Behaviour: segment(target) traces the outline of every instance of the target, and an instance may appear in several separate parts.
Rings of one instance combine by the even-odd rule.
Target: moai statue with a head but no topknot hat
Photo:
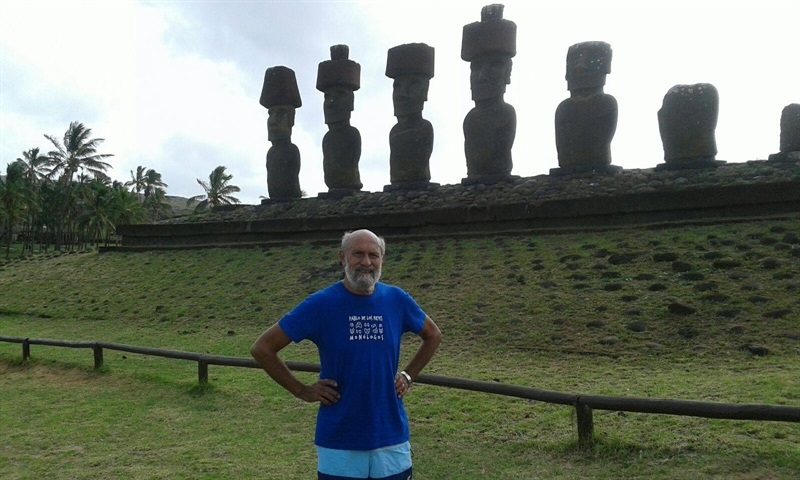
[[[556,149],[559,168],[552,175],[579,172],[615,173],[611,140],[617,131],[617,100],[603,93],[611,73],[611,45],[576,43],[567,50],[570,97],[556,109]]]

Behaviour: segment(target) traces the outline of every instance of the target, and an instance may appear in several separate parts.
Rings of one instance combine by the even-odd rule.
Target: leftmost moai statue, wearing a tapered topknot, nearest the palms
[[[292,143],[292,127],[302,102],[294,70],[268,68],[259,103],[269,112],[267,139],[272,142],[267,152],[267,202],[300,198],[300,150]]]

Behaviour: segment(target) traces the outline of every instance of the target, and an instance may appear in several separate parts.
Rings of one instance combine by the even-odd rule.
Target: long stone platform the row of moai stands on
[[[432,184],[231,205],[146,225],[121,225],[103,250],[262,246],[334,240],[369,228],[386,236],[574,231],[733,221],[800,213],[800,161],[754,160],[693,170],[631,169],[513,177],[492,185]]]

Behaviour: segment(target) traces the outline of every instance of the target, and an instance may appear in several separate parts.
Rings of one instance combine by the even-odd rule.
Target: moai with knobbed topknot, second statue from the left
[[[322,168],[328,194],[352,195],[363,186],[358,172],[361,134],[350,125],[355,91],[361,87],[361,65],[349,59],[347,45],[331,47],[331,59],[320,62],[317,90],[325,93],[323,111],[328,133],[322,139]]]

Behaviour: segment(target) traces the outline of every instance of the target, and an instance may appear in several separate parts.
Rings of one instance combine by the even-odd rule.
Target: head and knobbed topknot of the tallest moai
[[[504,6],[487,5],[481,21],[464,25],[461,58],[470,62],[470,88],[476,102],[502,98],[511,83],[517,54],[517,24],[503,18]]]

